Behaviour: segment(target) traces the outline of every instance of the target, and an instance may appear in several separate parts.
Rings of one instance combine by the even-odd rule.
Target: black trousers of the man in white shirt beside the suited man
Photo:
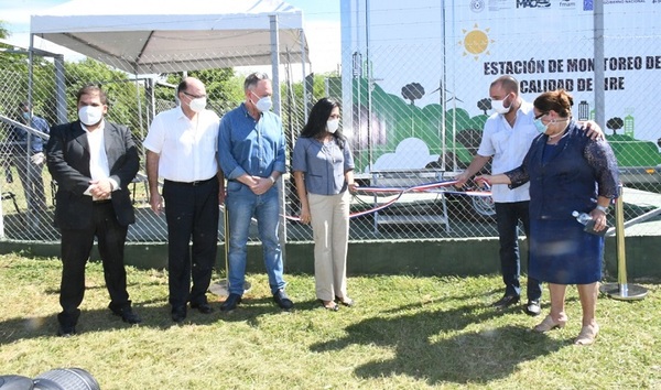
[[[170,304],[205,303],[218,251],[218,178],[195,184],[165,181],[163,198]]]

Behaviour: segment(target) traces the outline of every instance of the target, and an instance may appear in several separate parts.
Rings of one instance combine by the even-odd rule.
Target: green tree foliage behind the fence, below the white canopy
[[[0,22],[0,36],[7,34]],[[182,80],[183,74],[171,73],[154,76],[158,82],[154,88],[155,101],[150,100],[149,80],[136,79],[136,76],[104,64],[84,58],[65,61],[64,93],[66,120],[77,119],[76,93],[87,84],[100,86],[108,96],[108,120],[127,124],[138,138],[143,138],[151,122],[152,111],[156,112],[173,107],[174,88]],[[29,90],[29,55],[23,53],[3,53],[0,56],[0,112],[15,111],[18,102],[28,99]],[[53,58],[33,56],[32,100],[35,113],[44,117],[48,123],[57,123],[57,86]],[[207,90],[208,108],[223,116],[245,100],[243,78],[234,68],[212,68],[191,71],[188,76],[201,79]],[[308,83],[308,107],[319,98],[328,95],[326,79],[336,78],[337,74],[313,74]],[[312,88],[310,88],[310,86]],[[285,130],[297,133],[304,124],[302,107],[303,82],[289,83],[284,79],[281,89],[281,107]],[[339,95],[335,96],[339,98]]]

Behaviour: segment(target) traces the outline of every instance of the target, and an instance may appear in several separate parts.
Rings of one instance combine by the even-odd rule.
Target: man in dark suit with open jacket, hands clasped
[[[140,165],[138,150],[126,126],[104,120],[106,94],[86,86],[77,94],[79,120],[52,129],[46,163],[57,182],[55,226],[62,232],[62,284],[57,315],[59,336],[72,336],[85,294],[85,264],[94,238],[99,243],[108,307],[129,324],[140,317],[131,310],[123,264],[129,224],[136,221],[128,185]]]

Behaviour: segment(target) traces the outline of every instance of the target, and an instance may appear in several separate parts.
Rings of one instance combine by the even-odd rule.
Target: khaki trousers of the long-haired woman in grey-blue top
[[[338,195],[307,194],[314,237],[315,291],[322,301],[347,296],[350,199],[348,191]]]

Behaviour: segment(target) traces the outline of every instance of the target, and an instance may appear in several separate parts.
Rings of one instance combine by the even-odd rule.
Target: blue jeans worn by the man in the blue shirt
[[[226,212],[229,213],[229,293],[243,295],[248,234],[252,217],[257,219],[271,293],[284,289],[286,283],[282,277],[282,250],[278,239],[280,226],[278,187],[273,186],[263,195],[256,195],[243,184],[230,181],[227,184],[225,206]]]

